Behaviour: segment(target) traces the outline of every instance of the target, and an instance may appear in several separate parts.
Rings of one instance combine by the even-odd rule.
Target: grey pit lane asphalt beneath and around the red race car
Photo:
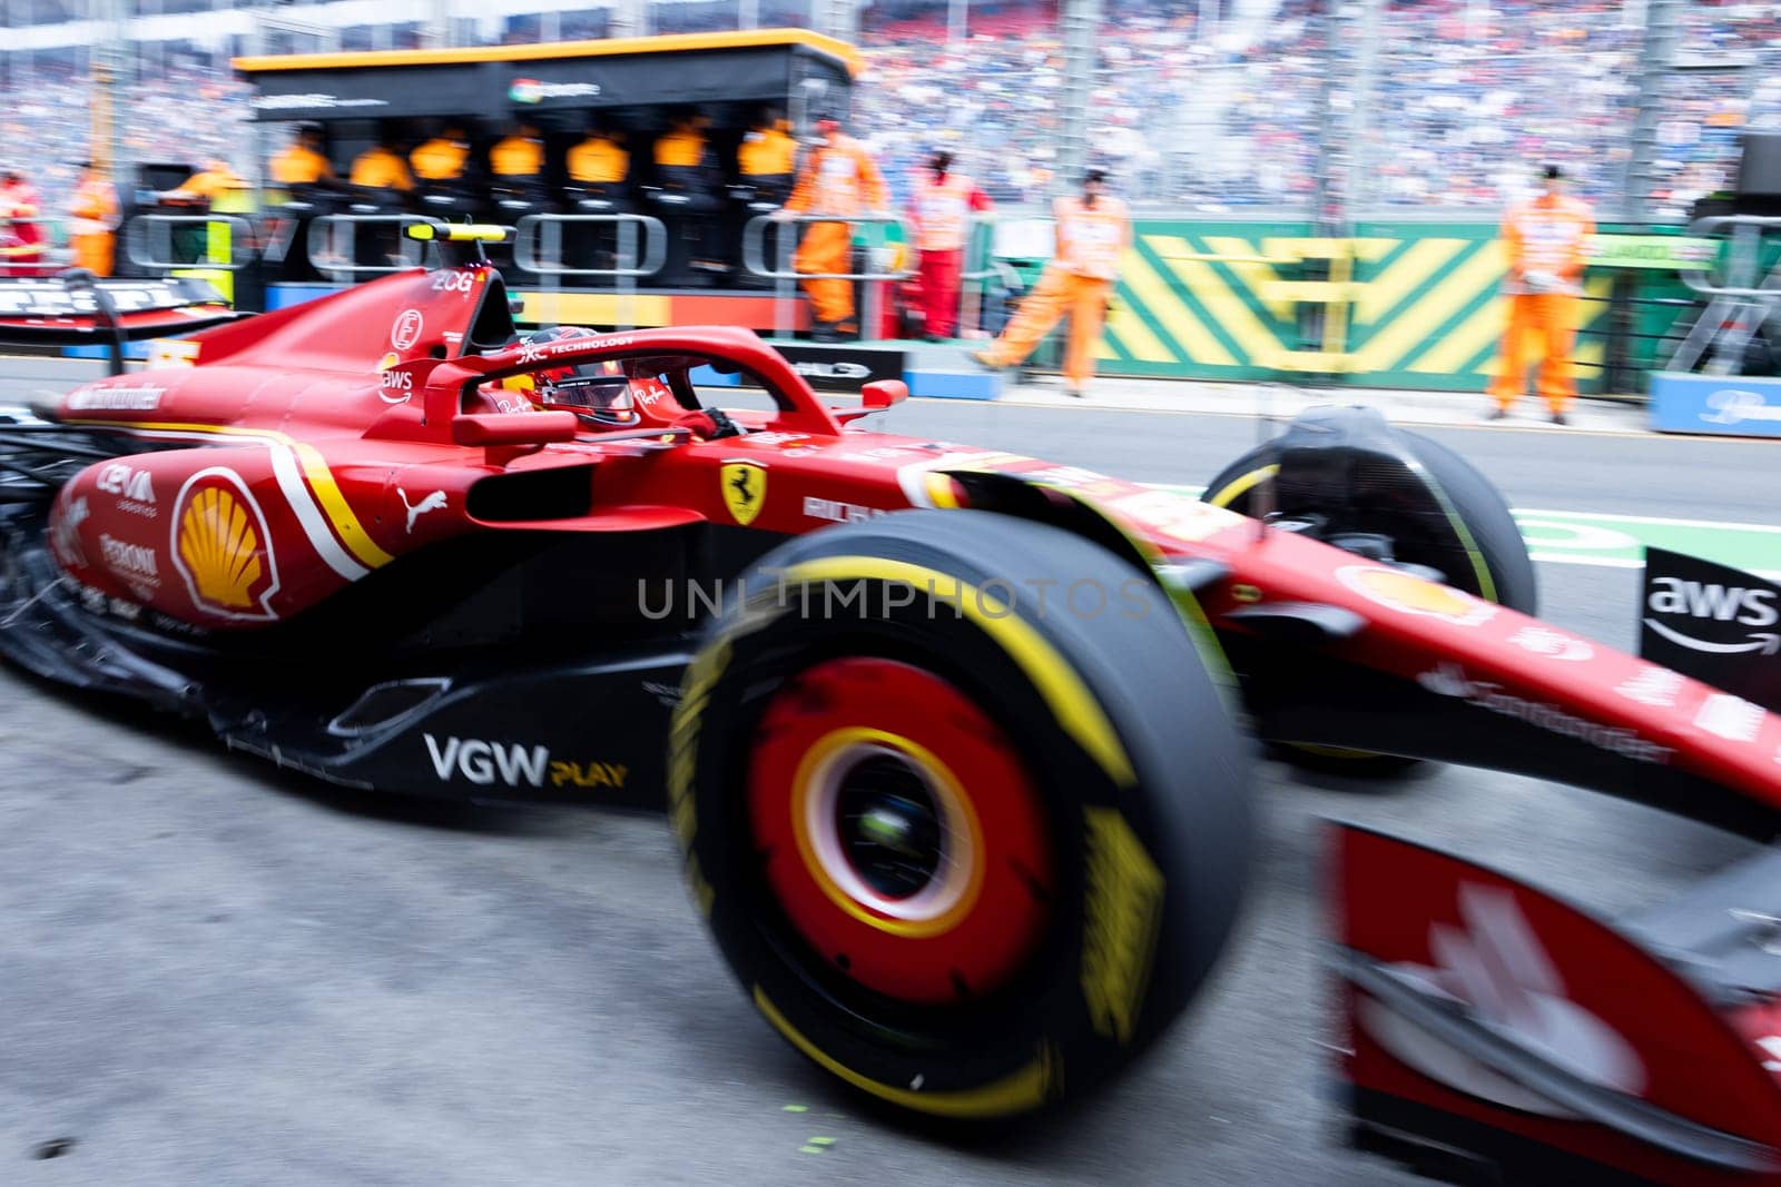
[[[69,368],[5,363],[0,399]],[[1243,418],[923,404],[885,427],[1199,484]],[[1432,431],[1512,504],[1777,521],[1776,445]],[[1546,616],[1630,646],[1637,575],[1541,566]],[[744,1002],[666,826],[319,788],[0,669],[0,1182],[1396,1183],[1327,1102],[1318,820],[1624,909],[1745,847],[1476,771],[1261,767],[1265,858],[1213,988],[1058,1125],[939,1141],[862,1107]],[[803,1112],[787,1112],[801,1105]],[[55,1160],[39,1143],[69,1137]],[[834,1144],[809,1146],[810,1137]]]

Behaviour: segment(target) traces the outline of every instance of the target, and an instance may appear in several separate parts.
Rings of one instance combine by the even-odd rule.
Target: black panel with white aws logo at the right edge
[[[1639,655],[1781,712],[1781,585],[1646,548]]]

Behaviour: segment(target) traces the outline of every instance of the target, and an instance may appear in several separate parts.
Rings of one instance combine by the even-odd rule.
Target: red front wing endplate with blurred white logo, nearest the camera
[[[1359,828],[1332,831],[1330,902],[1343,952],[1437,1002],[1464,1002],[1487,1041],[1516,1045],[1587,1089],[1605,1089],[1610,1109],[1633,1100],[1678,1125],[1635,1134],[1646,1118],[1589,1118],[1587,1103],[1496,1071],[1345,982],[1343,1075],[1355,1089],[1637,1182],[1781,1182],[1781,1160],[1765,1150],[1781,1134],[1772,1005],[1713,1009],[1651,950],[1571,904],[1434,849]],[[1662,1141],[1663,1128],[1678,1137],[1674,1146]],[[1679,1146],[1701,1135],[1696,1157],[1685,1157]],[[1708,1151],[1719,1159],[1703,1157]],[[1541,1182],[1578,1178],[1569,1167]]]

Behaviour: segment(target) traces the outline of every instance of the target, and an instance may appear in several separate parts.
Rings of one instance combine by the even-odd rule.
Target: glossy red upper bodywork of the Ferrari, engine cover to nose
[[[1222,632],[1241,634],[1224,616],[1257,603],[1345,607],[1364,628],[1329,648],[1338,660],[1419,682],[1615,758],[1688,771],[1781,810],[1781,719],[1703,683],[1327,545],[1289,532],[1263,536],[1252,520],[1183,495],[844,424],[857,409],[825,406],[752,331],[647,329],[568,338],[543,351],[463,354],[484,294],[504,299],[486,265],[404,272],[203,333],[194,338],[194,367],[68,393],[62,420],[126,425],[155,448],[94,464],[62,488],[50,529],[57,559],[73,578],[114,598],[212,630],[251,630],[465,532],[630,532],[709,521],[796,534],[951,505],[956,484],[935,475],[994,472],[1092,504],[1159,559],[1227,564],[1229,578],[1202,591]],[[486,375],[673,352],[753,372],[777,392],[778,411],[736,411],[750,429],[744,436],[682,434],[664,445],[684,409],[663,395],[638,408],[638,427],[629,431],[573,431],[573,440],[541,447],[459,443],[486,440],[486,425],[511,432],[515,424],[522,431],[534,424],[534,438],[550,436],[547,420],[572,434],[561,415],[499,415],[477,392]],[[167,450],[167,443],[205,448]],[[746,523],[725,502],[723,468],[734,463],[748,463],[762,479]],[[586,472],[588,514],[543,525],[467,514],[477,482],[549,468]],[[216,514],[194,513],[199,502]]]

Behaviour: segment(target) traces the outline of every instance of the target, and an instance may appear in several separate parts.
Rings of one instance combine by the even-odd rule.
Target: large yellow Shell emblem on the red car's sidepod
[[[199,470],[173,509],[173,566],[207,614],[272,619],[278,562],[260,504],[233,470]]]

